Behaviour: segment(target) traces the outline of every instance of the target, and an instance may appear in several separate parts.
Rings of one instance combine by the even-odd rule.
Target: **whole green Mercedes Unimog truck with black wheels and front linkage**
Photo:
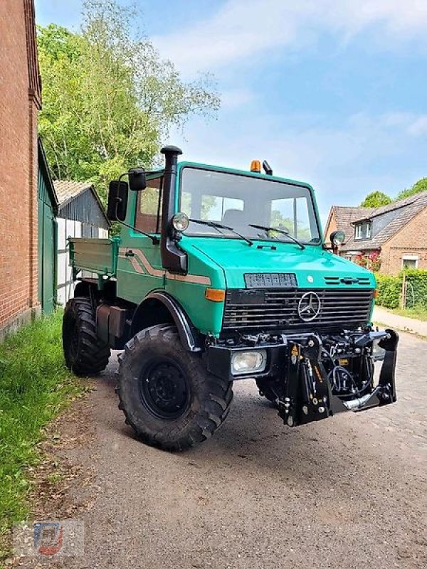
[[[164,168],[111,182],[120,237],[70,239],[67,366],[99,373],[122,350],[119,408],[167,450],[210,437],[243,379],[289,426],[396,401],[398,337],[372,327],[374,275],[327,249],[311,186],[266,162],[239,171],[162,153]]]

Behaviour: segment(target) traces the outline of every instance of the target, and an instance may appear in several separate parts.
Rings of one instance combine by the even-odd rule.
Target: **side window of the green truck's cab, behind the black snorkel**
[[[135,227],[144,233],[162,230],[163,177],[147,180],[147,188],[138,192]]]

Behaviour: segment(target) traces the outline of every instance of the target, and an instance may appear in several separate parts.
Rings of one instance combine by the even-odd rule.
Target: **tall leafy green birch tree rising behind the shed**
[[[185,83],[147,38],[137,14],[116,0],[85,0],[79,33],[38,28],[43,81],[39,130],[57,179],[107,183],[155,163],[172,126],[209,117],[219,98],[209,75]]]

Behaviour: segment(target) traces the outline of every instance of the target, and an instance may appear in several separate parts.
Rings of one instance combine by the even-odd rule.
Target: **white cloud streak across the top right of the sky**
[[[347,40],[369,26],[387,46],[427,38],[426,0],[228,0],[211,18],[154,37],[184,73],[215,70],[265,50],[300,48],[320,33]]]

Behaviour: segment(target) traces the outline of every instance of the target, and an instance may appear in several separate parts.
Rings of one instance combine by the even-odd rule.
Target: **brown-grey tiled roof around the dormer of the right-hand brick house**
[[[414,196],[404,200],[389,203],[388,206],[381,206],[380,208],[341,208],[347,210],[344,213],[344,220],[340,224],[339,216],[337,219],[337,227],[344,232],[348,231],[349,238],[342,245],[343,251],[349,250],[374,250],[381,248],[384,243],[391,239],[401,228],[406,225],[417,213],[420,213],[424,208],[427,208],[427,191],[416,193]],[[349,213],[351,211],[352,213]],[[396,211],[396,216],[384,225],[379,233],[374,235],[371,239],[354,239],[354,224],[364,220],[371,220],[379,216]],[[343,215],[341,214],[342,218]],[[352,218],[348,221],[349,216]]]

